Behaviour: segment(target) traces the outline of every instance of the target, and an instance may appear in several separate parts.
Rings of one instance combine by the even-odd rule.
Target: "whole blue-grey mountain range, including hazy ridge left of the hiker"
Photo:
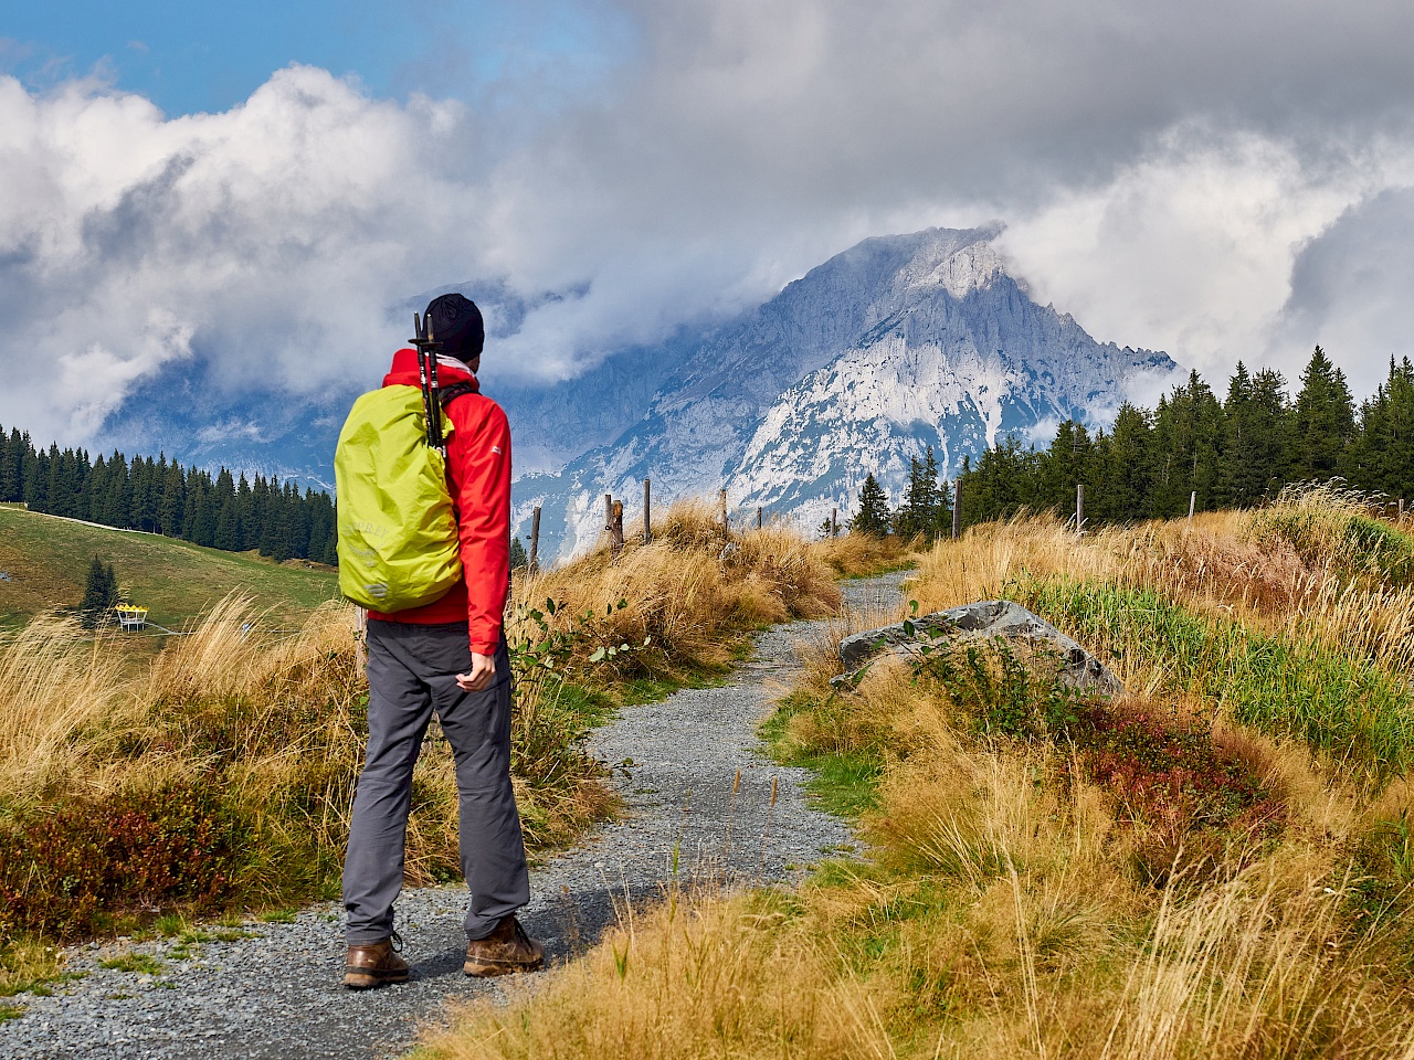
[[[390,312],[445,290],[482,307],[491,339],[482,383],[505,406],[516,442],[513,519],[523,533],[543,507],[542,555],[591,543],[607,492],[625,497],[633,519],[645,478],[655,503],[725,488],[742,512],[761,506],[809,529],[831,507],[850,512],[871,472],[896,503],[925,445],[953,475],[1011,432],[1044,438],[1065,418],[1107,427],[1135,383],[1176,372],[1165,353],[1096,342],[1034,302],[1005,270],[1000,230],[865,239],[754,310],[611,351],[553,384],[502,376],[495,339],[537,305],[585,288],[522,298],[503,284],[458,285]],[[143,387],[106,434],[130,451],[328,485],[354,396],[222,400],[184,366]]]

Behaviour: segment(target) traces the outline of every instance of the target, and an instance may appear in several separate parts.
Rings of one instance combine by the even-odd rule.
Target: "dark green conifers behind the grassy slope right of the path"
[[[1290,483],[1333,478],[1414,499],[1414,365],[1390,358],[1389,377],[1359,406],[1319,346],[1295,400],[1273,369],[1253,373],[1239,362],[1225,399],[1192,372],[1157,408],[1121,404],[1109,431],[1066,420],[1045,449],[1012,435],[964,458],[959,478],[966,524],[1021,509],[1075,512],[1077,485],[1086,523],[1172,519],[1188,514],[1191,499],[1199,512],[1251,507]],[[936,537],[950,530],[952,500],[929,448],[913,458],[895,510],[875,478],[865,479],[850,529]]]

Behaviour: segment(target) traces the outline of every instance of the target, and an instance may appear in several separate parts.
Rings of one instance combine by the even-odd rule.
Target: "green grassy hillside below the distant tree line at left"
[[[328,568],[281,567],[173,537],[0,506],[0,571],[10,575],[0,581],[0,629],[76,605],[95,555],[113,564],[127,598],[150,608],[150,620],[168,629],[181,629],[232,589],[291,623],[338,595],[338,575]]]

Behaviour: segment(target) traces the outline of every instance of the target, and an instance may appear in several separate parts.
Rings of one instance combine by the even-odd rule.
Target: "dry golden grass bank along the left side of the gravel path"
[[[560,608],[542,628],[529,611],[546,598]],[[734,639],[747,630],[829,613],[839,599],[827,568],[797,536],[768,527],[724,537],[699,505],[667,512],[650,546],[631,544],[617,557],[604,548],[518,579],[523,606],[509,635],[525,656],[516,666],[534,656],[534,642],[566,635],[556,670],[530,667],[530,680],[520,681],[513,715],[512,772],[532,852],[568,842],[612,811],[605,769],[581,741],[612,701],[605,687],[650,677],[662,688],[728,661]],[[181,827],[205,821],[199,827],[233,837],[221,842],[236,844],[223,848],[221,879],[201,883],[202,909],[332,890],[366,735],[354,611],[327,605],[294,635],[271,625],[250,599],[230,595],[141,667],[107,640],[54,618],[0,642],[6,930],[23,927],[49,902],[48,892],[34,890],[33,875],[6,871],[6,851],[24,855],[42,841],[65,864],[92,864],[122,842],[119,832],[136,827],[153,832],[151,859],[160,861],[167,856],[158,851],[163,830],[178,825],[143,821],[173,806],[195,814]],[[629,642],[635,650],[619,654]],[[615,650],[591,663],[595,647]],[[455,770],[436,725],[416,767],[413,804],[409,883],[454,878]],[[34,868],[44,875],[40,862]],[[170,879],[180,905],[191,893],[181,866],[165,876],[158,869],[144,862],[151,879]],[[124,900],[136,900],[124,897],[122,881],[89,875],[89,905],[65,920],[68,934],[98,930]],[[28,912],[13,913],[21,906]]]

